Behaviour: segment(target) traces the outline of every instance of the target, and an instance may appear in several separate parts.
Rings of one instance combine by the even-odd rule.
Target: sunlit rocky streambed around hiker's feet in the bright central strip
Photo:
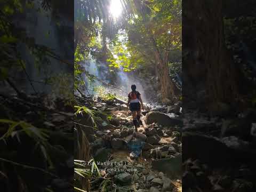
[[[97,129],[92,126],[86,133],[101,173],[91,178],[92,190],[181,191],[180,104],[172,108],[145,105],[134,134],[131,113],[122,102],[95,102],[92,109],[105,113],[98,115]],[[76,121],[92,124],[84,116]]]

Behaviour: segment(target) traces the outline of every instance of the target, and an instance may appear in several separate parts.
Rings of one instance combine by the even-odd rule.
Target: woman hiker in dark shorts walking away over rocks
[[[144,110],[144,106],[139,91],[136,91],[136,85],[132,85],[131,88],[132,92],[128,94],[127,107],[129,107],[130,105],[130,110],[132,111],[133,124],[135,126],[135,130],[138,131],[138,121],[140,120],[141,109]]]

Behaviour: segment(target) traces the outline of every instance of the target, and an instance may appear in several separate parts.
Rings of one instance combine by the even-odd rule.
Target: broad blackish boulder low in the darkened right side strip
[[[246,150],[244,146],[237,147],[236,141],[239,141],[237,139],[223,138],[222,140],[199,133],[183,132],[182,159],[199,159],[214,167],[227,166],[231,163],[234,166],[243,163],[255,165],[255,150]],[[241,145],[241,143],[238,144]]]

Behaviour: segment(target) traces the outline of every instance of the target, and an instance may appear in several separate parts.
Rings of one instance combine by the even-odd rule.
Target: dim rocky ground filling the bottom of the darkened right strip
[[[209,117],[187,110],[182,129],[184,191],[255,191],[255,109]],[[222,113],[223,114],[223,113]]]

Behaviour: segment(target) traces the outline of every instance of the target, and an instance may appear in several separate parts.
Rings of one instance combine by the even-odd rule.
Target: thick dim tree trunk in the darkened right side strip
[[[210,110],[220,102],[234,102],[239,75],[225,45],[222,1],[185,0],[182,7],[184,96],[197,103],[205,100]],[[196,95],[202,90],[203,98]]]

